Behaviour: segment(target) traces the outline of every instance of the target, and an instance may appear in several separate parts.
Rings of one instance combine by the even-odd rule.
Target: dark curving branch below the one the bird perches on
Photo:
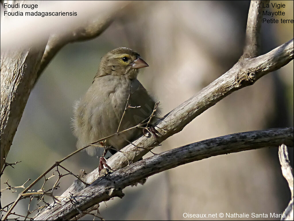
[[[35,220],[69,220],[76,215],[81,217],[79,210],[96,207],[97,203],[113,197],[123,197],[123,188],[156,173],[212,156],[278,147],[283,143],[293,147],[293,127],[230,134],[171,149],[99,177],[90,186],[71,194],[74,206],[69,200],[63,200],[61,205],[45,210]]]

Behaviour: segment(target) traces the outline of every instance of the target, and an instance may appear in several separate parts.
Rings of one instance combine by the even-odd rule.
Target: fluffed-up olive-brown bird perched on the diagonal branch
[[[118,134],[150,122],[152,115],[159,114],[159,109],[155,112],[156,98],[137,79],[139,69],[144,67],[148,64],[140,55],[126,47],[113,49],[101,58],[92,85],[74,105],[72,126],[77,149],[115,134],[103,142],[103,147],[120,150],[144,134],[144,129],[139,127]],[[148,131],[155,135],[157,130],[151,128]],[[87,147],[86,151],[93,156],[96,147]]]

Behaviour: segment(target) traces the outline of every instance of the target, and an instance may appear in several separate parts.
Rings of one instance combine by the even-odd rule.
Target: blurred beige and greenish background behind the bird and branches
[[[293,19],[293,1],[271,2],[286,5],[282,9],[285,16],[276,19]],[[1,189],[6,187],[3,183],[7,179],[12,186],[22,185],[28,178],[35,180],[55,161],[76,150],[70,126],[73,105],[90,87],[106,52],[125,46],[141,55],[150,67],[141,69],[138,79],[158,98],[164,116],[238,61],[243,52],[249,4],[250,1],[134,1],[97,38],[66,45],[30,94],[6,160],[22,162],[15,169],[6,169]],[[266,53],[293,38],[293,24],[263,23],[261,32],[261,50]],[[159,153],[231,133],[290,126],[293,127],[293,61],[221,100],[153,151]],[[289,154],[293,165],[293,148]],[[98,167],[98,159],[80,152],[62,165],[76,174],[80,169],[91,172]],[[49,180],[48,189],[56,179]],[[55,194],[60,195],[74,180],[72,176],[62,178]],[[41,186],[42,182],[34,189]],[[182,165],[123,192],[123,199],[100,204],[103,218],[187,220],[185,212],[269,215],[282,213],[290,200],[278,147]],[[2,206],[17,195],[4,191]],[[30,209],[35,205],[32,202]],[[27,206],[28,200],[21,201],[16,212],[26,214]],[[88,219],[93,217],[82,218]]]

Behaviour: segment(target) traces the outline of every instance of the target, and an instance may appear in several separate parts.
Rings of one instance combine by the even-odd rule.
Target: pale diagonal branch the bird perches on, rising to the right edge
[[[293,39],[267,54],[237,62],[228,72],[159,120],[156,127],[160,128],[158,130],[162,136],[157,138],[158,141],[162,142],[173,134],[180,132],[195,117],[224,97],[238,89],[253,84],[265,74],[283,67],[291,60],[293,60]],[[158,145],[157,139],[153,136],[149,138],[141,136],[132,144],[121,149],[122,152],[117,152],[110,157],[107,160],[107,164],[113,170],[118,170],[128,165],[128,159],[137,161]],[[138,147],[141,148],[138,149]],[[92,183],[98,178],[99,172],[97,168],[86,175],[84,181]],[[70,194],[75,194],[84,187],[80,182],[75,181],[62,196],[69,197]]]

